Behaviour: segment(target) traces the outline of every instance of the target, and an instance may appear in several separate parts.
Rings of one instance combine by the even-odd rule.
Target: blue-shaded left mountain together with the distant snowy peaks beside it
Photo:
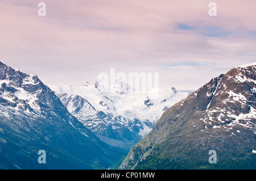
[[[46,86],[1,61],[0,169],[109,169],[189,94],[172,88],[152,99],[128,92],[122,81],[113,87],[103,92],[97,81]],[[38,163],[39,150],[47,164]]]

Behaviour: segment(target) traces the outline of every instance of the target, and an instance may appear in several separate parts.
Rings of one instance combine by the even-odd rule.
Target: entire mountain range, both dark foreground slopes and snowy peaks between
[[[123,81],[47,86],[0,61],[0,169],[255,169],[255,72],[151,96]]]

